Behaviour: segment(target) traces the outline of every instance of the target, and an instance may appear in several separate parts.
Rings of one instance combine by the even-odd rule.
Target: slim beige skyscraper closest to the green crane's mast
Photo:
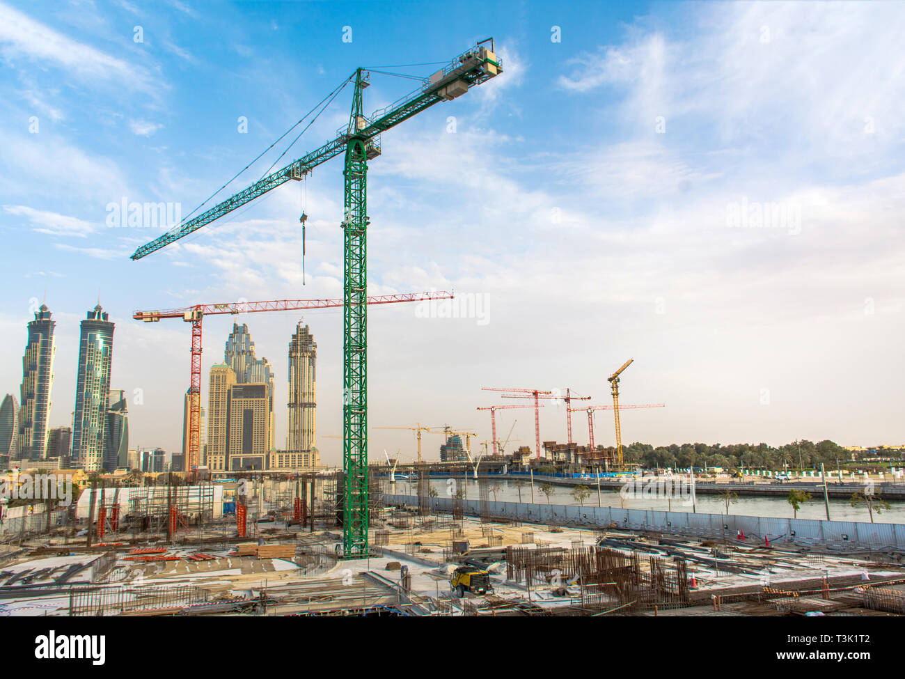
[[[318,345],[309,327],[299,321],[289,343],[289,428],[287,452],[309,451],[316,443]]]

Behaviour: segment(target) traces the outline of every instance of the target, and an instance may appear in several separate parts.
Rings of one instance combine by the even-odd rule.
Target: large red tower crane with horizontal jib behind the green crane
[[[395,304],[403,301],[449,300],[449,292],[405,292],[395,295],[373,295],[367,298],[368,304]],[[186,454],[186,472],[197,468],[198,454],[201,450],[201,322],[205,316],[223,313],[253,313],[257,311],[300,311],[306,309],[330,309],[341,307],[342,298],[338,300],[268,300],[268,301],[230,301],[224,304],[195,304],[183,309],[167,309],[165,311],[136,311],[132,314],[135,320],[156,323],[161,319],[182,319],[192,324],[192,365],[188,387],[188,454]]]

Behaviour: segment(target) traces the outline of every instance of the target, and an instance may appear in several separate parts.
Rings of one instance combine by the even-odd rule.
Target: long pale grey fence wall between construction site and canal
[[[452,498],[430,498],[434,509],[452,510]],[[385,494],[387,504],[417,505],[415,495]],[[466,514],[478,515],[479,500],[463,500]],[[691,512],[655,512],[618,507],[579,507],[569,504],[531,504],[529,502],[486,502],[486,511],[518,521],[555,525],[569,523],[587,528],[623,528],[632,531],[660,531],[734,538],[744,531],[746,541],[764,543],[795,542],[799,545],[823,544],[829,549],[905,550],[905,524],[865,523],[862,521],[821,521],[818,519],[780,519],[761,516],[734,516]]]

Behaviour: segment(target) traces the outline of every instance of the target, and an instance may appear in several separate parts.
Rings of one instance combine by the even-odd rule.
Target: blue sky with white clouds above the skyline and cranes
[[[185,215],[357,66],[443,62],[492,35],[503,75],[387,132],[368,196],[372,292],[481,295],[487,322],[372,311],[372,426],[449,423],[487,438],[474,408],[500,399],[481,387],[572,387],[606,403],[605,377],[631,356],[624,402],[667,404],[626,415],[632,440],[901,443],[900,10],[0,3],[2,389],[18,389],[24,323],[46,291],[58,320],[51,424],[70,424],[78,322],[100,291],[117,321],[113,386],[141,395],[131,444],[177,449],[188,329],[132,311],[340,296],[341,161],[140,262],[129,253],[160,230],[109,228],[107,206],[178,203]],[[368,111],[414,86],[373,82]],[[348,105],[344,91],[283,161],[332,139]],[[764,225],[733,224],[761,206],[772,206]],[[341,316],[304,318],[319,344],[319,433],[338,435]],[[297,320],[241,319],[278,392]],[[205,322],[205,372],[230,321]],[[562,409],[542,413],[542,438],[564,440]],[[518,419],[529,445],[531,417]],[[500,427],[511,421],[500,414]],[[277,423],[281,444],[279,400]],[[607,416],[598,423],[611,443]],[[338,463],[337,440],[319,444]]]

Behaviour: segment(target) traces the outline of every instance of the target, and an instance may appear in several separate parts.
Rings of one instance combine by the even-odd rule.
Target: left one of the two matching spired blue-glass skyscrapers
[[[53,386],[53,328],[51,312],[42,304],[28,323],[28,344],[22,359],[19,388],[19,453],[24,459],[47,457],[47,417]]]

